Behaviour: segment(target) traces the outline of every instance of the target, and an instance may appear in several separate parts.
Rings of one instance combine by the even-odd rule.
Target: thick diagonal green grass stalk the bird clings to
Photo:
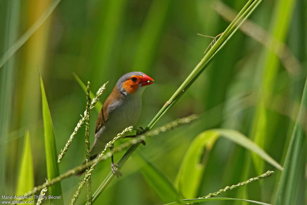
[[[186,90],[192,85],[192,83],[197,79],[197,77],[206,69],[209,63],[212,61],[215,54],[227,43],[227,41],[232,37],[232,35],[238,30],[239,26],[244,22],[246,18],[248,18],[253,11],[257,8],[257,6],[262,2],[262,0],[249,0],[243,9],[239,12],[239,14],[235,17],[235,19],[230,23],[230,25],[226,28],[220,38],[216,41],[216,43],[212,46],[212,48],[208,51],[208,53],[204,56],[204,58],[196,65],[193,71],[189,74],[189,76],[185,79],[185,81],[181,84],[181,86],[177,89],[177,91],[173,94],[173,96],[165,103],[165,105],[160,109],[157,115],[151,120],[151,122],[147,125],[144,132],[147,132],[153,128],[153,126],[160,120],[160,118],[164,115],[164,113],[172,107],[180,97],[186,92]],[[119,166],[121,167],[126,160],[131,156],[134,150],[138,147],[138,144],[132,145],[125,155],[119,160]],[[97,189],[95,193],[99,193],[99,189],[101,187],[106,187],[114,175],[112,172],[107,175],[104,179],[103,183]],[[94,194],[93,202],[98,196]]]

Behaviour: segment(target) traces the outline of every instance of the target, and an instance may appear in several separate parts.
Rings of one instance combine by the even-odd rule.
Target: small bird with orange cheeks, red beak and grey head
[[[142,93],[147,85],[153,84],[153,81],[151,77],[142,72],[126,73],[119,78],[98,115],[90,160],[95,159],[118,133],[137,123],[142,110]],[[125,137],[135,137],[135,135]],[[142,143],[145,145],[145,142]],[[113,150],[113,145],[110,149]],[[76,175],[80,176],[84,171],[85,169]],[[118,170],[118,164],[114,163],[113,155],[111,156],[111,171],[117,177],[122,175]]]

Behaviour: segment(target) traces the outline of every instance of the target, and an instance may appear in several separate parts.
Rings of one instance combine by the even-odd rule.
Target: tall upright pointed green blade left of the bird
[[[48,179],[53,179],[60,175],[59,165],[57,162],[56,152],[56,140],[54,136],[54,128],[52,124],[51,114],[49,105],[45,93],[43,80],[40,76],[41,82],[41,100],[43,109],[43,120],[44,120],[44,135],[45,135],[45,152],[46,152],[46,164],[47,164],[47,176]],[[63,204],[63,194],[61,183],[55,183],[49,187],[49,195],[61,196],[61,199],[50,200],[50,204]]]

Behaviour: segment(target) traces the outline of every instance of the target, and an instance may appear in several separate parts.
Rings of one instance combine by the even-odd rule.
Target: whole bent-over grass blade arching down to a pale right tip
[[[191,143],[185,154],[182,164],[177,173],[175,187],[186,198],[196,197],[201,181],[202,173],[205,169],[208,155],[216,140],[223,136],[228,140],[256,153],[263,160],[272,164],[274,167],[282,170],[282,166],[278,164],[272,157],[263,151],[257,144],[251,141],[238,131],[230,129],[211,129],[200,133]],[[204,152],[205,149],[205,153]],[[191,183],[193,182],[193,183]],[[191,197],[192,196],[192,197]]]

